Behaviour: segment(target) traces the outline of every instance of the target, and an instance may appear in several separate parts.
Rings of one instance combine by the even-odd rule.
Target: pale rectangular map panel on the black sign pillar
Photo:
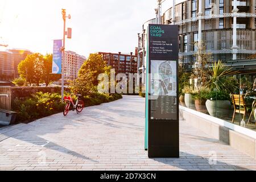
[[[176,61],[151,60],[151,96],[177,95]]]

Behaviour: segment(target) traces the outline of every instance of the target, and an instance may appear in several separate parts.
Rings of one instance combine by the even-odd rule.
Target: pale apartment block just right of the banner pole
[[[63,63],[64,80],[75,80],[84,61],[86,61],[85,56],[81,56],[76,52],[65,51],[65,61]]]

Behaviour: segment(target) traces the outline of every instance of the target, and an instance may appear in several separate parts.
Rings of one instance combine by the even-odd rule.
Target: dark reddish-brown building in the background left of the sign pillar
[[[133,52],[130,54],[119,53],[108,53],[108,52],[98,52],[99,55],[102,55],[102,58],[106,63],[115,69],[115,73],[137,73],[137,56],[138,49],[135,50],[135,55]]]

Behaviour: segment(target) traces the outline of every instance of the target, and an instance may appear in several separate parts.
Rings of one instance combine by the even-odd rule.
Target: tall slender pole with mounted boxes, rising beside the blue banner
[[[62,9],[62,17],[63,17],[63,21],[64,21],[64,28],[63,28],[63,47],[62,47],[62,51],[63,51],[63,58],[62,58],[62,72],[61,72],[61,101],[64,101],[64,61],[65,61],[65,35],[67,35],[66,32],[66,18],[71,19],[71,15],[69,14],[68,16],[66,16],[66,10]],[[71,32],[69,32],[69,34],[71,34]],[[68,38],[71,38],[71,35],[68,35]]]

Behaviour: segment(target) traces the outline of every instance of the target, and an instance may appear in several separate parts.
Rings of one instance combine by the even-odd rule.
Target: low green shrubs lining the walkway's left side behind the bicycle
[[[69,96],[69,93],[64,93]],[[71,96],[73,101],[76,96]],[[100,105],[105,102],[112,102],[122,98],[121,94],[100,94],[92,93],[89,96],[84,96],[85,106]],[[30,98],[19,100],[15,98],[12,102],[12,109],[16,111],[16,122],[30,122],[35,119],[47,117],[52,114],[60,113],[64,109],[59,93],[43,93],[38,92],[32,94]]]

